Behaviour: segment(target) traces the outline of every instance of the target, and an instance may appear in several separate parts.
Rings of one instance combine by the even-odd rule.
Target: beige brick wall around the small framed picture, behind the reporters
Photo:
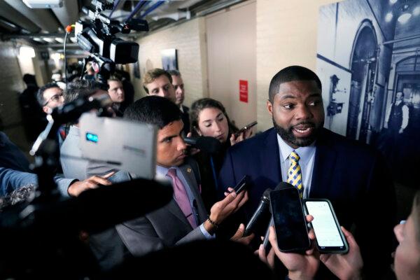
[[[176,48],[179,71],[186,87],[186,106],[201,97],[207,97],[207,49],[205,45],[204,18],[190,20],[141,38],[139,43],[139,65],[141,77],[146,71],[162,67],[160,52]],[[144,96],[141,80],[133,79],[136,99]],[[139,94],[141,92],[141,94]]]

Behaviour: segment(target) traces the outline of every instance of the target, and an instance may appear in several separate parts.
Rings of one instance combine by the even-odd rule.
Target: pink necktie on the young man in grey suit
[[[167,176],[169,176],[172,179],[172,186],[174,187],[174,196],[176,203],[178,204],[179,208],[181,208],[184,216],[186,216],[186,218],[188,219],[188,222],[190,222],[190,225],[193,228],[197,228],[186,188],[183,186],[183,183],[181,182],[179,177],[176,176],[176,169],[169,169]]]

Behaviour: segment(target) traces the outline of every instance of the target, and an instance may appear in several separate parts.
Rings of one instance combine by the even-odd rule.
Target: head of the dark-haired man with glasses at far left
[[[64,104],[63,90],[56,83],[48,83],[39,88],[36,99],[42,111],[50,113],[55,107]]]

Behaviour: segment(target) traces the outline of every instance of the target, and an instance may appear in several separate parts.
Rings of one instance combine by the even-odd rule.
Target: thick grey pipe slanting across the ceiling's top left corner
[[[10,6],[18,10],[19,13],[25,15],[32,22],[34,22],[41,29],[48,32],[56,32],[60,27],[59,22],[54,18],[48,9],[31,9],[25,5],[22,1],[16,0],[4,0]]]

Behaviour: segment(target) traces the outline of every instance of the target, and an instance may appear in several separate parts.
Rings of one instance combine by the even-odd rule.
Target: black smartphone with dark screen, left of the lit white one
[[[306,251],[311,246],[307,221],[297,188],[273,190],[269,200],[276,230],[277,244],[282,252]]]

